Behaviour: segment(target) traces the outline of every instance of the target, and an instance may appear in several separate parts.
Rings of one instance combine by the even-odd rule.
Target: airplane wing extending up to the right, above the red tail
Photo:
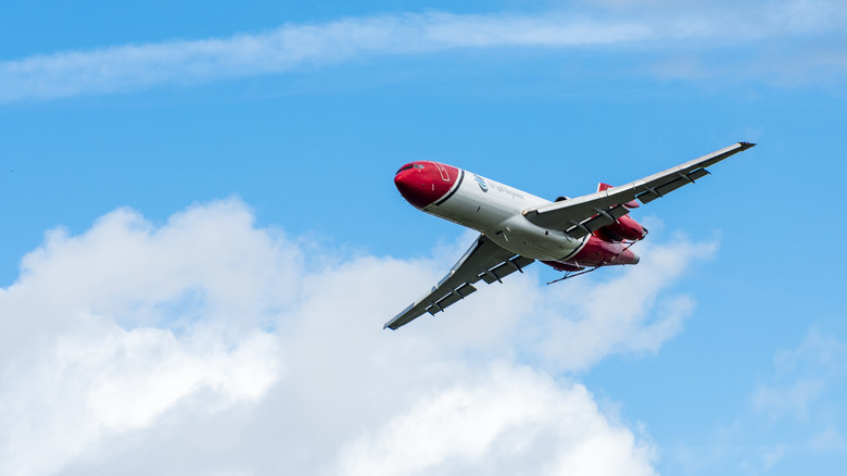
[[[649,203],[683,185],[693,184],[694,180],[709,175],[706,167],[754,146],[755,143],[737,142],[620,187],[527,209],[523,211],[523,216],[535,225],[565,231],[573,238],[582,238],[598,228],[611,225],[629,213],[629,210],[623,206],[624,203],[635,199],[642,203]]]

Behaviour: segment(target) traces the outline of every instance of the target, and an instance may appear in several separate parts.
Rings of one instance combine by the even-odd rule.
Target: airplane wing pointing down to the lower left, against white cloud
[[[515,254],[491,241],[485,235],[480,235],[470,249],[456,263],[432,290],[418,299],[396,317],[382,327],[396,330],[412,320],[420,317],[425,312],[435,315],[454,302],[465,299],[475,292],[473,284],[483,280],[488,284],[501,281],[505,276],[531,264],[533,259]]]

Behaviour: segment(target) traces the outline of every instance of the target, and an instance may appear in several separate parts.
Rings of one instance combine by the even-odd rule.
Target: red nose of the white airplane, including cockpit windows
[[[458,168],[438,162],[413,162],[397,172],[394,185],[403,198],[422,209],[446,196],[458,174]]]

